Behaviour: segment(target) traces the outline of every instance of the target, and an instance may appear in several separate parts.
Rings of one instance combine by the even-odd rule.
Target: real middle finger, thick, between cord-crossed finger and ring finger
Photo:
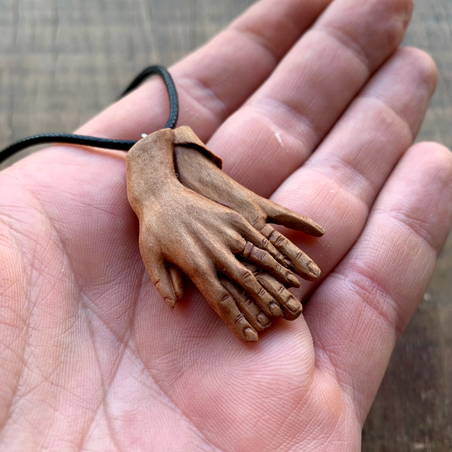
[[[334,1],[209,141],[225,172],[270,196],[395,51],[411,10],[412,0]]]

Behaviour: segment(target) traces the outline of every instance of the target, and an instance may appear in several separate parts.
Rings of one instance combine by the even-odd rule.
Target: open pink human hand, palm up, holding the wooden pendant
[[[52,147],[1,173],[5,450],[359,450],[450,230],[452,157],[412,146],[437,73],[397,50],[411,2],[328,3],[263,0],[171,69],[179,124],[240,184],[326,231],[287,233],[322,275],[299,289],[303,316],[258,343],[193,287],[174,311],[161,302],[125,155]],[[158,130],[165,95],[152,80],[79,132]]]

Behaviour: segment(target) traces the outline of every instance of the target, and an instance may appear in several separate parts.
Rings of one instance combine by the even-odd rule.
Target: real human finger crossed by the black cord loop
[[[179,124],[191,126],[202,140],[207,140],[268,77],[329,2],[259,1],[212,41],[173,66],[170,71],[181,105]],[[151,80],[78,132],[138,139],[142,133],[163,127],[167,111],[163,83]]]

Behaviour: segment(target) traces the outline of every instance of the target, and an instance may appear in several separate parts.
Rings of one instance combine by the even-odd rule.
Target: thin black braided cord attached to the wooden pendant
[[[179,116],[179,100],[174,80],[163,66],[146,67],[146,69],[141,71],[132,83],[127,86],[127,89],[121,94],[121,98],[133,89],[137,88],[137,86],[150,75],[159,75],[165,82],[168,97],[170,98],[170,116],[164,128],[174,129]],[[128,151],[135,143],[137,143],[137,141],[110,140],[108,138],[89,137],[86,135],[75,135],[72,133],[41,133],[39,135],[32,135],[31,137],[23,138],[10,144],[8,147],[5,147],[5,149],[0,151],[0,163],[26,147],[44,143],[79,144],[84,146],[101,147],[104,149],[116,149],[118,151]]]

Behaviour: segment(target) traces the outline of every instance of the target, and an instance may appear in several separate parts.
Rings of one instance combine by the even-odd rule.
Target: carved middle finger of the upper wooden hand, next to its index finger
[[[254,273],[248,268],[245,268],[244,265],[235,259],[234,255],[231,254],[230,258],[223,259],[219,269],[228,278],[235,281],[240,287],[243,287],[254,298],[266,315],[282,317],[281,307],[275,299],[259,284]]]

